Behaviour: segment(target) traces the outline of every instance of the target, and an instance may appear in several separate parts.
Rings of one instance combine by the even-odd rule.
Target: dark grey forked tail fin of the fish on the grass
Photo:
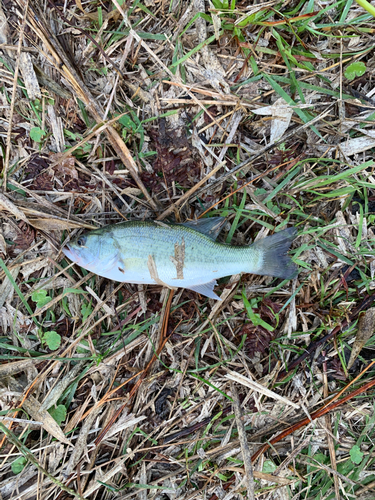
[[[260,250],[263,254],[262,267],[256,274],[284,279],[295,278],[298,267],[291,261],[287,251],[296,236],[297,229],[290,227],[251,245],[252,249]]]

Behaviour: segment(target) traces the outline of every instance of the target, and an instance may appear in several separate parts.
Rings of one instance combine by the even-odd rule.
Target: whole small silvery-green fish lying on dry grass
[[[225,218],[161,223],[127,221],[95,229],[70,241],[70,260],[111,280],[187,288],[211,299],[217,280],[239,273],[292,279],[296,264],[287,255],[297,235],[293,227],[252,245],[217,242]]]

